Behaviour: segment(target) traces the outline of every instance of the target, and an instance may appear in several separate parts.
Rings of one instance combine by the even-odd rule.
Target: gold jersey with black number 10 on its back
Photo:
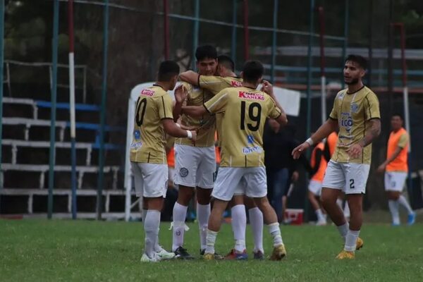
[[[161,120],[173,120],[170,95],[158,85],[141,91],[135,108],[133,142],[130,161],[166,164],[166,135]]]

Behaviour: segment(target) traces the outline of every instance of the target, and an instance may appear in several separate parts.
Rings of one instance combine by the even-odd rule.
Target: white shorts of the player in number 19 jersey
[[[212,196],[230,201],[237,195],[265,197],[267,195],[266,169],[259,167],[221,167],[217,173]]]

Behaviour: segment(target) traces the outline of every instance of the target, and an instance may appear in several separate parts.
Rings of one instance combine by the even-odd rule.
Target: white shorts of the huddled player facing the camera
[[[173,182],[187,187],[212,189],[216,172],[216,153],[212,147],[176,144]]]

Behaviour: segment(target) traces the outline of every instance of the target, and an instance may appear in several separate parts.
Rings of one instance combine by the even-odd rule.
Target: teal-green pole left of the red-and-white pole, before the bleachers
[[[53,47],[52,47],[52,82],[51,82],[51,113],[50,113],[50,156],[49,156],[49,199],[47,218],[51,219],[53,213],[53,185],[54,163],[56,155],[56,97],[57,97],[57,49],[59,47],[59,0],[53,4]]]

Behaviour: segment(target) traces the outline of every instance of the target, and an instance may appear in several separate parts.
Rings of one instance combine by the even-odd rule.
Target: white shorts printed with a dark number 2
[[[369,164],[329,161],[324,175],[323,188],[338,189],[345,194],[365,194]]]

